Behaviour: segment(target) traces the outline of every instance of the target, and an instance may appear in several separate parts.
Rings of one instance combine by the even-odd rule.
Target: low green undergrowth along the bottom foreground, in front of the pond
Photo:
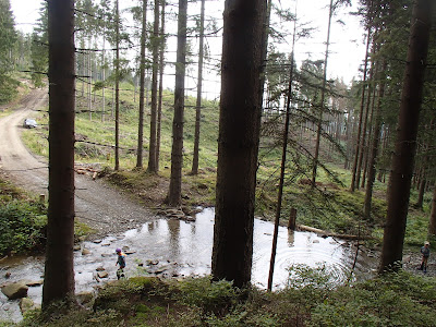
[[[436,279],[405,271],[337,286],[323,269],[298,266],[286,289],[240,290],[209,277],[135,277],[102,287],[94,300],[20,326],[434,326]],[[58,312],[58,313],[57,313]]]

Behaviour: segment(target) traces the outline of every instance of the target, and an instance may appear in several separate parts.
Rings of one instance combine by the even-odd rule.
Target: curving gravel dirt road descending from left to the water
[[[47,101],[47,90],[35,89],[21,100],[12,114],[0,119],[0,169],[19,186],[37,194],[48,193],[48,164],[27,150],[20,134],[24,119],[35,117],[34,110]],[[119,233],[155,218],[102,181],[76,174],[75,189],[76,218],[96,230],[93,238]]]

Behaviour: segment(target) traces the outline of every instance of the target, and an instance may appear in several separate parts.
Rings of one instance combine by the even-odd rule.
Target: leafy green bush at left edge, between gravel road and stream
[[[12,201],[1,206],[0,254],[40,247],[46,223],[46,208],[39,203]]]

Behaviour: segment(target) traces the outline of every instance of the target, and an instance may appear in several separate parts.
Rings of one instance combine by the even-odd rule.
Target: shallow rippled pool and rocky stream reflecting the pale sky
[[[156,219],[122,235],[109,235],[100,241],[84,242],[82,249],[90,253],[74,256],[76,293],[89,291],[107,280],[116,279],[117,255],[122,247],[128,253],[128,277],[150,275],[164,277],[204,276],[210,274],[215,211],[206,208],[196,215],[195,222],[173,219]],[[255,219],[252,282],[266,288],[271,253],[274,225]],[[131,254],[129,254],[131,253]],[[279,228],[274,288],[283,288],[288,280],[288,268],[296,264],[311,267],[325,265],[338,282],[348,278],[355,250],[344,241],[319,238],[313,232],[293,232]],[[375,267],[374,258],[360,254],[356,265],[358,276],[366,278]],[[97,268],[105,268],[108,278],[96,279]],[[44,275],[44,258],[12,258],[0,264],[0,283],[19,280],[39,280]],[[7,279],[4,272],[11,272]],[[359,278],[359,277],[358,277]],[[36,303],[41,301],[43,287],[29,288],[28,296]],[[0,293],[0,318],[20,320],[19,301],[8,301]]]

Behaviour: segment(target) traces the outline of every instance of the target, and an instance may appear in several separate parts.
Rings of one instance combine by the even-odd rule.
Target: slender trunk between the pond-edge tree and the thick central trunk
[[[202,0],[201,17],[199,17],[199,45],[198,45],[198,78],[197,78],[197,101],[195,110],[195,140],[194,155],[192,158],[191,174],[198,173],[198,152],[199,152],[199,125],[202,120],[202,85],[203,85],[203,57],[204,57],[204,12],[205,0]]]

